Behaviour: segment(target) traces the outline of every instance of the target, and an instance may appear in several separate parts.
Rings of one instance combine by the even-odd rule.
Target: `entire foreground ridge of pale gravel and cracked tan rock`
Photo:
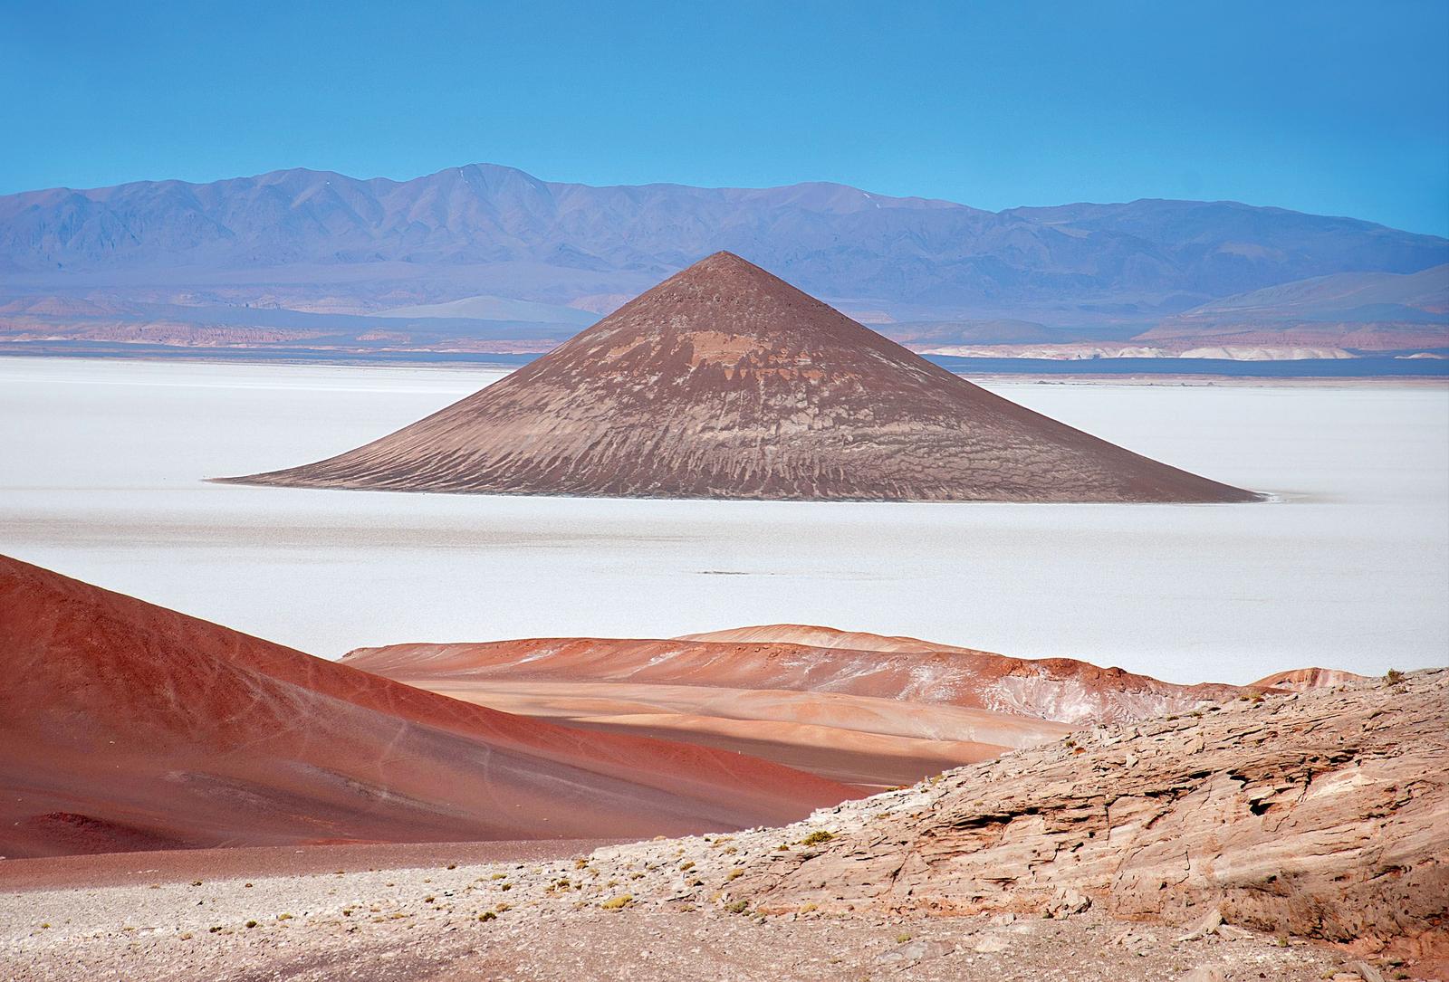
[[[440,844],[413,869],[339,859],[335,873],[0,894],[0,968],[16,979],[1436,979],[1449,968],[1446,698],[1449,671],[1269,694],[1078,733],[785,828],[551,862],[465,865]]]

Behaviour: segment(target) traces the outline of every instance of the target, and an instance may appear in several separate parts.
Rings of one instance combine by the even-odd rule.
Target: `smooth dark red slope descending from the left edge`
[[[640,837],[852,789],[409,688],[0,556],[0,855]]]

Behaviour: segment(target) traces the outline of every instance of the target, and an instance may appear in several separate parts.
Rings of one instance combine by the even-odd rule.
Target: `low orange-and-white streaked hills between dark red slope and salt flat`
[[[874,786],[1243,691],[797,624],[672,640],[391,645],[343,660],[510,713],[668,734]]]

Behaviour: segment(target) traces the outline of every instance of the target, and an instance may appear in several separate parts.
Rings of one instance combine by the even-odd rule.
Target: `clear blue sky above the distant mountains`
[[[0,193],[480,161],[1445,235],[1449,1],[0,0]]]

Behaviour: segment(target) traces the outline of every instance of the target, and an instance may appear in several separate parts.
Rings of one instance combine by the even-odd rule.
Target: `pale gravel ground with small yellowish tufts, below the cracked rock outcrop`
[[[914,791],[895,792],[909,800]],[[1058,979],[1156,982],[1343,975],[1333,949],[1223,926],[1065,918],[759,914],[732,870],[827,821],[610,846],[555,862],[440,863],[252,879],[0,894],[0,976],[638,982]],[[811,824],[813,823],[813,824]],[[454,866],[449,869],[448,866]],[[1385,978],[1394,978],[1392,966]]]

